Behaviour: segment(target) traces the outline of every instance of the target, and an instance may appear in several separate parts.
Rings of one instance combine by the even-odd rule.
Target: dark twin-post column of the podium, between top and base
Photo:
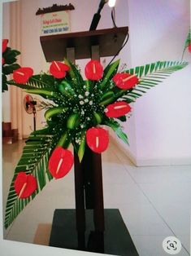
[[[91,46],[91,58],[99,60],[99,46]],[[67,48],[67,59],[75,62],[75,48]],[[85,148],[85,156],[80,163],[75,155],[75,196],[76,231],[78,248],[85,249],[85,208],[93,210],[94,231],[89,234],[88,248],[104,252],[104,206],[102,190],[101,154]]]

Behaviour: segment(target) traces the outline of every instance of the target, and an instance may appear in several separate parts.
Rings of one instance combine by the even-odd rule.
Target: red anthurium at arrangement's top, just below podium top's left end
[[[66,64],[63,64],[59,61],[53,61],[50,65],[50,74],[52,74],[56,78],[63,78],[66,77],[66,71],[68,71],[70,67],[68,67]]]

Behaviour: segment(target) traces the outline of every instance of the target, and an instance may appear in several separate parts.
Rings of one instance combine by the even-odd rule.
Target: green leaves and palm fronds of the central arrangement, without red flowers
[[[102,125],[111,127],[119,139],[128,143],[128,136],[124,133],[119,122],[116,121],[126,121],[126,117],[122,116],[116,120],[106,117],[104,113],[106,106],[118,100],[124,100],[128,103],[135,102],[147,90],[163,82],[171,73],[184,68],[187,63],[158,61],[125,70],[126,73],[137,74],[139,78],[138,85],[129,90],[119,89],[112,81],[112,77],[117,73],[119,60],[106,67],[103,77],[99,81],[84,81],[76,65],[68,60],[65,60],[65,64],[70,67],[70,70],[63,79],[41,73],[30,77],[28,82],[23,85],[16,84],[14,81],[7,82],[6,74],[2,74],[4,84],[18,86],[27,93],[41,95],[53,101],[45,113],[47,127],[43,130],[37,130],[29,136],[22,157],[15,168],[7,198],[6,228],[52,179],[48,170],[48,161],[50,153],[56,146],[68,148],[72,143],[81,161],[86,147],[86,130],[93,126]],[[15,64],[11,64],[11,67],[5,69],[5,72],[11,72],[14,68],[16,68]],[[20,171],[33,174],[37,179],[37,191],[27,199],[19,199],[15,193],[14,182]]]

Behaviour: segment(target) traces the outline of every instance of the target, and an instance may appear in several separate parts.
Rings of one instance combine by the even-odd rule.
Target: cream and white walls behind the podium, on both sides
[[[39,7],[50,7],[52,0],[20,0],[22,2],[22,64],[31,66],[35,73],[46,70],[40,45]],[[73,0],[72,32],[89,30],[97,1]],[[157,60],[180,60],[184,40],[189,29],[188,0],[119,0],[116,6],[118,26],[129,25],[130,39],[120,54],[121,64],[128,68]],[[111,28],[111,11],[105,6],[98,29]],[[185,55],[190,60],[190,55]],[[110,58],[107,58],[109,61]],[[83,60],[78,61],[81,69]],[[175,73],[133,104],[132,117],[124,125],[130,147],[119,142],[137,165],[188,163],[190,150],[190,66]],[[30,133],[32,117],[24,114],[24,135]],[[37,115],[37,127],[43,114]]]

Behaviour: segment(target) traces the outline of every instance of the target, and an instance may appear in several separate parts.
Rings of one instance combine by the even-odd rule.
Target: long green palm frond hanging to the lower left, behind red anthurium
[[[46,130],[43,130],[44,132]],[[22,157],[15,168],[15,175],[12,179],[11,188],[7,197],[5,214],[5,227],[9,227],[14,219],[30,201],[37,196],[52,178],[47,170],[50,152],[55,146],[53,135],[30,135],[23,150]],[[37,190],[32,196],[20,199],[15,193],[14,182],[17,174],[25,171],[26,174],[33,174],[37,179]]]

